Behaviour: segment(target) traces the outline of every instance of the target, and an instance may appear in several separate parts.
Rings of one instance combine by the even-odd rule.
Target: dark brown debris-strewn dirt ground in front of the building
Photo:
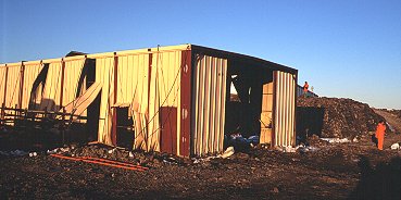
[[[399,122],[381,115],[390,124]],[[137,152],[129,157],[121,150],[121,161],[146,165],[146,172],[46,152],[0,155],[0,199],[401,199],[401,150],[390,149],[394,142],[401,142],[401,134],[388,133],[381,152],[369,135],[347,143],[311,137],[312,148],[297,152],[255,148],[203,160]],[[87,146],[64,154],[109,150]]]

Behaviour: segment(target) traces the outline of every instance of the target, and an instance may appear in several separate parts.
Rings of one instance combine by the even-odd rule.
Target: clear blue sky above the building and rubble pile
[[[401,0],[0,2],[0,63],[195,43],[298,68],[319,96],[401,109]]]

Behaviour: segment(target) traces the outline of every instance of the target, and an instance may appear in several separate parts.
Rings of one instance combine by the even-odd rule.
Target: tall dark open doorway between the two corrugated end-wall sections
[[[271,143],[273,70],[242,61],[230,61],[227,74],[225,145],[238,146],[237,138],[240,138],[240,142],[253,145]]]

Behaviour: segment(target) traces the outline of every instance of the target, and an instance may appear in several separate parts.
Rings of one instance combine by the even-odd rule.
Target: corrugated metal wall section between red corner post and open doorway
[[[193,68],[192,153],[223,151],[227,60],[198,54]]]

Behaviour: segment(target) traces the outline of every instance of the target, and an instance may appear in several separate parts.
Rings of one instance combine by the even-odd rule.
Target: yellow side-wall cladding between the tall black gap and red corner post
[[[181,51],[142,53],[122,51],[116,52],[115,57],[117,57],[116,63],[114,57],[95,57],[97,60],[96,82],[103,85],[99,141],[113,143],[112,107],[128,104],[129,115],[134,117],[134,148],[159,151],[162,125],[159,118],[161,107],[177,108],[176,133],[179,133]],[[114,102],[114,64],[117,64],[116,102]],[[178,139],[173,142],[179,146]]]

